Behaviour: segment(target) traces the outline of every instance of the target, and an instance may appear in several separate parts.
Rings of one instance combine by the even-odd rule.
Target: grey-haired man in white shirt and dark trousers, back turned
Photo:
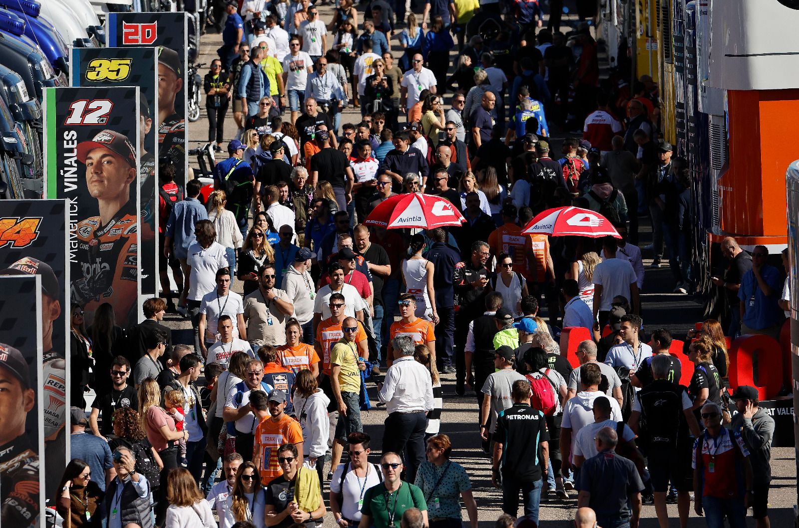
[[[403,453],[407,447],[406,480],[416,477],[416,468],[424,462],[424,430],[427,412],[433,410],[433,384],[430,372],[413,359],[415,344],[410,337],[392,341],[398,358],[386,372],[378,398],[386,404],[383,452]]]

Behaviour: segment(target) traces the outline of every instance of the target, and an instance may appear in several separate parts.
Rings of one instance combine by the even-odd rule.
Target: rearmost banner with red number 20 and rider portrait
[[[158,159],[169,158],[178,168],[176,180],[183,183],[188,167],[185,126],[189,85],[188,18],[185,13],[109,13],[105,18],[109,47],[156,46],[158,56]]]

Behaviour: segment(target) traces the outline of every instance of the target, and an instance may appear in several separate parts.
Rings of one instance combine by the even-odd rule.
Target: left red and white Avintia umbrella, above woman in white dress
[[[459,226],[466,222],[455,206],[446,198],[423,195],[419,192],[395,195],[380,203],[364,224],[367,226],[403,229],[416,227],[435,229],[444,226]]]

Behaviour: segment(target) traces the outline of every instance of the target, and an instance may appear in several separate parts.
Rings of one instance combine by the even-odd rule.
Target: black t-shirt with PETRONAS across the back
[[[549,441],[547,420],[528,404],[514,404],[497,417],[494,441],[503,444],[505,479],[533,483],[541,479],[540,442]]]

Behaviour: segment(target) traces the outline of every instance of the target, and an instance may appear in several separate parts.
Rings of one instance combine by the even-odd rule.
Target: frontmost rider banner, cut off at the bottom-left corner
[[[44,526],[41,319],[42,276],[0,277],[2,526]]]

